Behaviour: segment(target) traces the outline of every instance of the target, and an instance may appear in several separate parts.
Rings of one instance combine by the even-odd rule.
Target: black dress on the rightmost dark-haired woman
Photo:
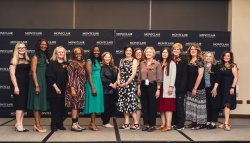
[[[236,66],[232,64],[230,68],[226,68],[222,66],[220,68],[220,94],[222,96],[222,104],[221,108],[224,109],[225,106],[234,110],[236,108],[236,88],[234,89],[234,94],[230,95],[230,89],[232,87],[234,81],[234,75],[232,72],[232,68]]]

